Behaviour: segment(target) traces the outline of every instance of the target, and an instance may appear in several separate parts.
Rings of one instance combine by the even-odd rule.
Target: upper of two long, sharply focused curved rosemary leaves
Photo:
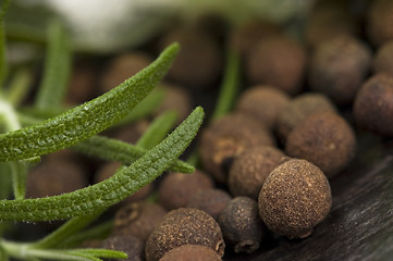
[[[50,153],[84,140],[127,115],[167,73],[179,45],[105,95],[40,124],[0,135],[0,161]]]

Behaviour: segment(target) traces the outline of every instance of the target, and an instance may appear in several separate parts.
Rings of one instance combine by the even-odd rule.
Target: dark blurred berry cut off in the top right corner
[[[374,46],[381,46],[393,39],[393,1],[376,0],[369,8],[366,29],[368,38]]]

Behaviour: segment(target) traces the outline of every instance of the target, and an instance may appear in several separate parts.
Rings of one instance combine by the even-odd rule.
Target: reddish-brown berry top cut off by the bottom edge
[[[184,245],[165,252],[160,261],[221,261],[221,257],[209,247]]]

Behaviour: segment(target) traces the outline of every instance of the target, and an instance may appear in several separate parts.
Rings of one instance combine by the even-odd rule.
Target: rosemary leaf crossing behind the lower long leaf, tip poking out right
[[[102,136],[93,136],[76,144],[72,149],[102,160],[120,161],[124,165],[130,165],[147,151],[134,145]],[[195,171],[194,166],[180,160],[173,161],[169,170],[182,173],[193,173]]]

